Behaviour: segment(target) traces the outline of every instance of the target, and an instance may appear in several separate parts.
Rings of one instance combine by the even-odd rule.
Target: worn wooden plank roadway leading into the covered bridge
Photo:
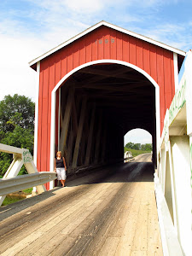
[[[163,255],[148,159],[1,207],[1,255]]]

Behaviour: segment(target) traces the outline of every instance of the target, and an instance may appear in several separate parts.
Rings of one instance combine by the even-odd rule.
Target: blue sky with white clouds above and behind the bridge
[[[35,101],[28,62],[101,20],[188,51],[191,10],[191,0],[1,0],[0,100],[19,93]]]

